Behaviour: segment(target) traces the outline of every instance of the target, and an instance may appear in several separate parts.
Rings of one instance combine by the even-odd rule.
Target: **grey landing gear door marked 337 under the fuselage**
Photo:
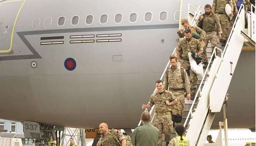
[[[23,122],[24,136],[31,139],[40,139],[40,125],[36,122]]]

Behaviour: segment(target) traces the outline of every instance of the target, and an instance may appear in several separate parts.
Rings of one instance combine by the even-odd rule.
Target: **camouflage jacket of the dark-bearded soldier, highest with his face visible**
[[[203,16],[203,15],[201,15],[201,16]],[[209,15],[204,14],[203,21],[200,21],[200,19],[197,21],[198,25],[200,25],[200,23],[203,23],[203,30],[205,32],[215,31],[215,26],[216,26],[217,30],[218,30],[218,34],[222,33],[221,26],[220,26],[220,20],[216,14],[213,14],[213,12],[211,12]]]

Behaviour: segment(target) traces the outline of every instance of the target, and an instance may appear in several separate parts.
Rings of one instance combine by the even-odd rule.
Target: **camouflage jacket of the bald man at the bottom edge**
[[[126,138],[122,132],[112,129],[106,135],[100,137],[97,146],[120,146],[123,139]]]

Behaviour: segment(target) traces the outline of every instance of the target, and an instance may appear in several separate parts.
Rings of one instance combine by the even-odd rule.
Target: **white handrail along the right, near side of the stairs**
[[[233,33],[233,31],[234,31],[234,28],[235,28],[235,23],[237,23],[237,20],[238,20],[238,17],[239,17],[239,14],[240,14],[240,12],[241,12],[242,7],[244,8],[244,5],[243,5],[243,4],[242,4],[242,5],[240,6],[240,8],[239,8],[239,11],[238,11],[238,13],[237,13],[237,17],[236,17],[236,19],[235,19],[235,22],[234,22],[234,25],[233,25],[233,27],[232,27],[232,30],[230,31],[230,35],[229,35],[229,37],[228,37],[228,41],[227,41],[227,43],[226,43],[226,45],[225,45],[224,50],[222,51],[222,50],[219,49],[218,47],[215,47],[215,48],[214,48],[214,51],[213,51],[213,53],[212,53],[212,55],[211,55],[210,60],[212,60],[213,55],[216,56],[216,49],[218,49],[218,50],[221,52],[221,58],[224,57],[225,51],[226,51],[226,49],[227,49],[227,47],[228,47],[228,42],[230,42],[230,38],[231,38],[232,33]],[[202,80],[201,80],[201,82],[200,82],[200,85],[199,85],[199,87],[198,87],[198,90],[197,90],[197,93],[196,93],[196,95],[195,95],[194,101],[192,102],[192,105],[191,105],[191,107],[190,107],[190,111],[189,111],[189,113],[187,114],[187,118],[186,118],[186,120],[185,120],[184,127],[187,125],[187,121],[188,121],[188,119],[189,119],[189,117],[190,117],[190,114],[191,114],[191,116],[192,116],[192,110],[193,110],[193,107],[194,107],[194,103],[195,103],[195,101],[196,101],[196,99],[197,99],[197,97],[198,97],[198,94],[201,93],[201,86],[202,86],[202,83],[203,83],[204,78],[205,78],[205,76],[206,76],[206,73],[207,73],[207,71],[208,71],[208,69],[209,69],[209,66],[210,66],[210,62],[208,63],[208,65],[207,65],[207,67],[206,67],[206,72],[204,72],[204,76],[203,76],[203,78],[202,78]],[[217,70],[216,70],[216,74],[217,74]],[[197,105],[197,106],[198,106],[198,105]],[[188,129],[189,129],[189,127],[187,127],[186,131],[187,131]],[[185,134],[186,134],[186,133],[185,133]]]

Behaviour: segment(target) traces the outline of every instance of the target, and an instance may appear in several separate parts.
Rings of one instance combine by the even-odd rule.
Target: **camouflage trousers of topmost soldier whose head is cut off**
[[[216,13],[218,18],[220,19],[220,26],[221,26],[221,30],[222,30],[222,36],[221,39],[225,39],[228,40],[228,36],[230,33],[230,24],[228,21],[228,15],[227,14],[220,14],[220,13]]]

